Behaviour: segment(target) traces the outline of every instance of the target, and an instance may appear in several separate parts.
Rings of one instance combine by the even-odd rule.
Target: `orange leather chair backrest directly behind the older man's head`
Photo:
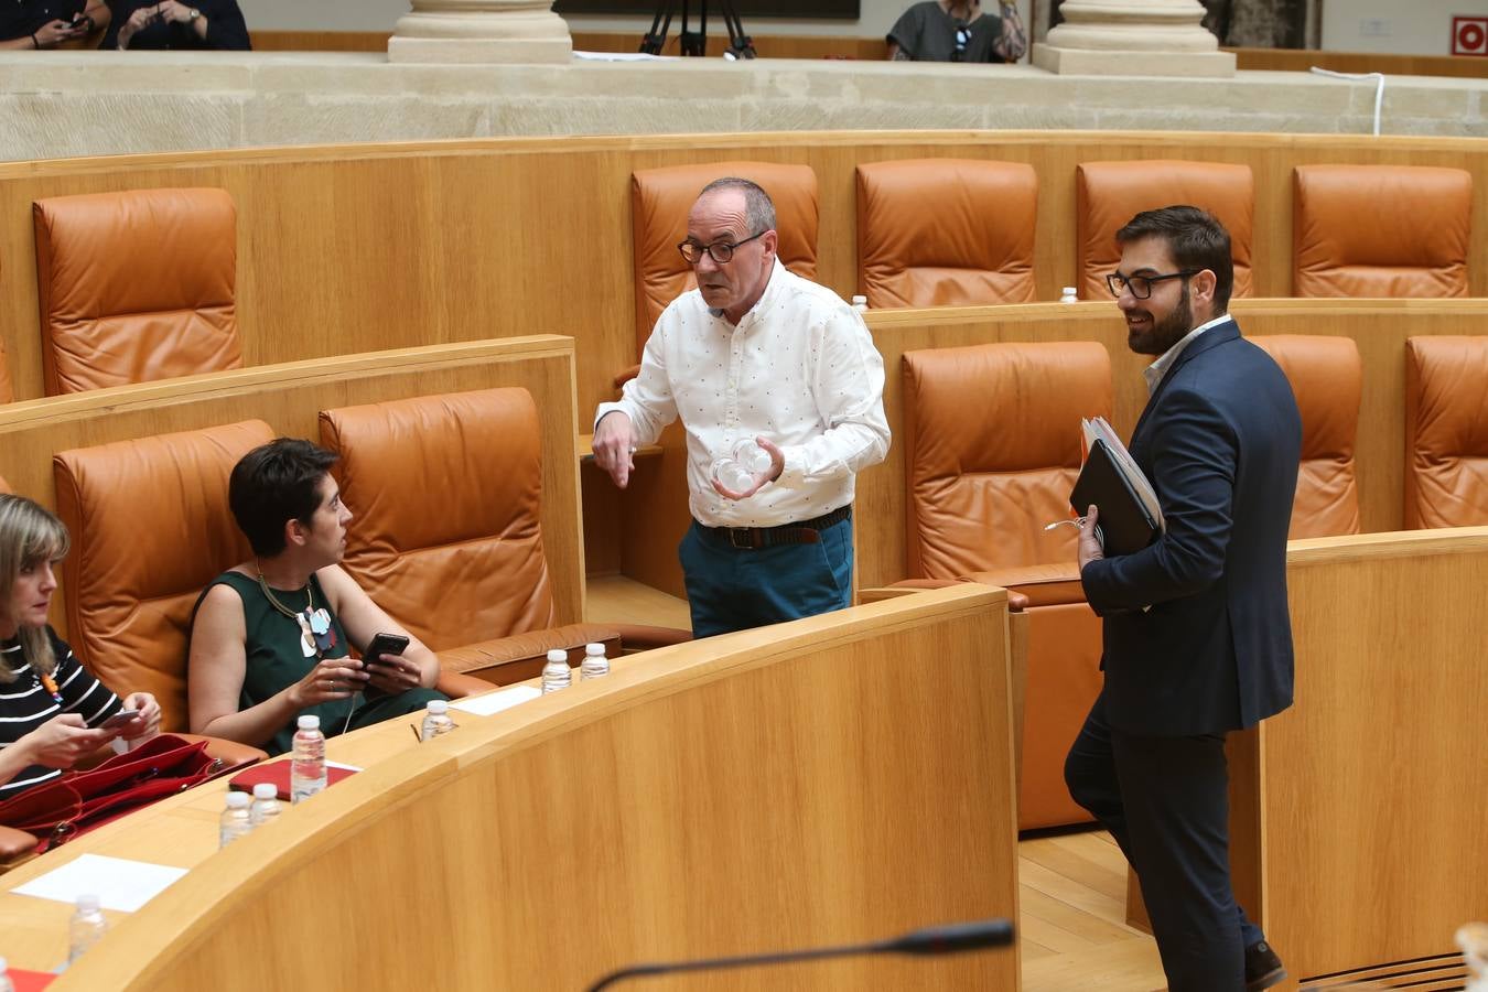
[[[737,175],[757,183],[775,204],[780,263],[817,277],[817,174],[809,165],[708,162],[641,170],[631,175],[635,247],[635,355],[640,357],[667,305],[698,284],[677,251],[687,236],[687,211],[702,187]]]

